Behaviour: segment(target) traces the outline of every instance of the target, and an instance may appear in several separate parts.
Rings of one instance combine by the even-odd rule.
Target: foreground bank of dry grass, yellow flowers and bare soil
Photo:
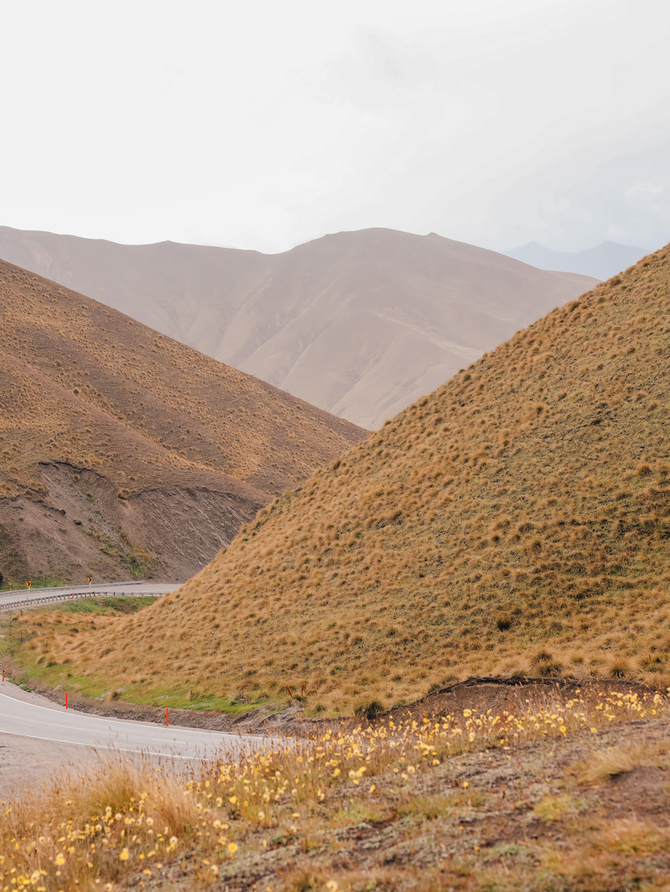
[[[115,756],[3,803],[4,888],[660,892],[669,720],[665,694],[592,685],[193,770]]]

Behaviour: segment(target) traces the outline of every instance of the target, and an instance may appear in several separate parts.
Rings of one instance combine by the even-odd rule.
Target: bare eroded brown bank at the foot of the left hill
[[[120,498],[91,469],[40,465],[41,491],[0,499],[4,584],[134,577],[179,582],[201,569],[264,503],[203,486],[156,486]],[[121,493],[121,495],[125,495]]]

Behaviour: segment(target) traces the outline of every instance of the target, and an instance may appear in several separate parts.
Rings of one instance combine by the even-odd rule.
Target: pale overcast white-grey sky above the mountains
[[[3,5],[0,224],[670,241],[668,0]]]

